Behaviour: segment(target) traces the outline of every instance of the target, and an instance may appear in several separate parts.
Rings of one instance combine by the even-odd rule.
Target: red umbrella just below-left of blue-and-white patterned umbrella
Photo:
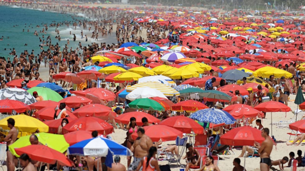
[[[185,116],[169,117],[165,120],[162,120],[160,125],[173,127],[183,133],[191,133],[191,131],[193,131],[195,134],[203,134],[203,127],[199,125],[195,120]]]

